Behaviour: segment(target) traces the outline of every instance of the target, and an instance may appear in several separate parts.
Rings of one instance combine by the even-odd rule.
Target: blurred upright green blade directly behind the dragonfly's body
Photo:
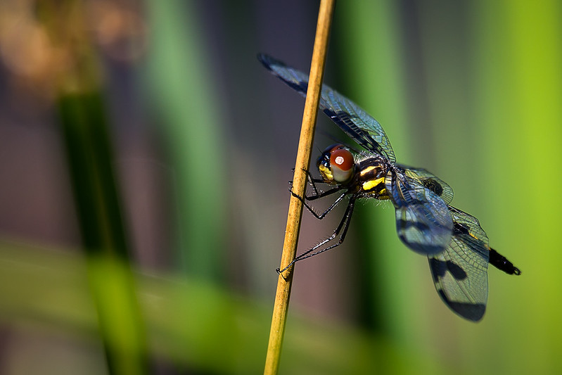
[[[336,8],[334,35],[339,35],[338,56],[342,82],[339,88],[346,96],[375,117],[385,129],[397,158],[402,163],[411,160],[408,136],[408,110],[402,60],[402,34],[399,4],[394,1],[346,1]],[[345,25],[338,29],[338,25]],[[376,330],[410,340],[415,330],[413,320],[404,316],[413,301],[414,291],[406,287],[407,277],[396,277],[414,256],[397,239],[393,208],[377,207],[369,212],[358,210],[355,225],[360,234],[358,246],[365,249],[370,260],[363,262],[366,282],[376,293],[376,300],[366,306],[372,314]],[[407,256],[404,256],[407,255]],[[384,283],[384,284],[381,284]],[[369,297],[365,297],[369,298]]]

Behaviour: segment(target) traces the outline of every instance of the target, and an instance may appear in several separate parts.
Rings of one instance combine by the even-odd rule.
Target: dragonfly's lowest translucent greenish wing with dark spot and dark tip
[[[451,310],[465,319],[482,319],[488,298],[490,247],[478,220],[450,207],[453,236],[443,253],[428,256],[435,289]]]

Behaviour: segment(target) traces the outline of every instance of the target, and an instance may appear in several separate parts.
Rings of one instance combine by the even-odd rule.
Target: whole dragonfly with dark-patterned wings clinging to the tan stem
[[[307,74],[265,54],[257,58],[273,75],[306,96]],[[305,171],[312,192],[301,197],[290,191],[319,220],[346,198],[347,207],[331,236],[277,272],[285,272],[295,262],[340,246],[358,199],[386,200],[394,205],[400,240],[428,257],[433,284],[445,305],[464,319],[482,319],[488,295],[488,265],[506,274],[520,275],[520,269],[490,248],[478,219],[449,205],[453,191],[448,184],[427,170],[396,162],[383,127],[365,110],[325,84],[319,107],[360,146],[360,151],[343,144],[328,146],[317,160],[321,177],[314,178]],[[329,188],[323,191],[320,184]],[[337,198],[324,212],[316,212],[309,205],[335,195]]]

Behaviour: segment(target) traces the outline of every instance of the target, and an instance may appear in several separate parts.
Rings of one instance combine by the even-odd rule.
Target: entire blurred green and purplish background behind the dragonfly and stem
[[[307,71],[317,9],[0,2],[2,374],[262,371],[304,101],[255,55]],[[465,322],[390,205],[366,203],[342,247],[296,267],[283,374],[562,372],[561,13],[337,4],[325,81],[523,274],[490,269],[487,313]],[[331,216],[305,213],[301,250]]]

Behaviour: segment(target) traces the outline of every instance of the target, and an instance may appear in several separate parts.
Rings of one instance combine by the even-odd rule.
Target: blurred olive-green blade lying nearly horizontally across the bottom
[[[100,258],[98,267],[106,282],[122,277],[114,262],[104,262]],[[16,333],[32,326],[43,335],[91,343],[97,322],[87,293],[87,267],[82,256],[70,251],[0,243],[0,322]],[[205,374],[262,372],[269,303],[172,275],[136,274],[135,284],[151,357]],[[423,355],[335,322],[298,312],[289,319],[281,363],[286,374],[402,375],[440,368]]]

